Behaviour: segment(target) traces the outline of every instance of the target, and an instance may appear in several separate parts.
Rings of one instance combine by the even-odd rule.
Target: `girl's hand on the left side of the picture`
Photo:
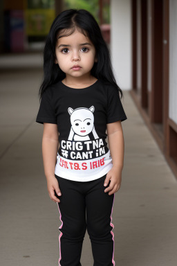
[[[57,193],[58,196],[62,195],[56,177],[54,176],[47,177],[47,189],[50,199],[52,199],[53,202],[60,202],[60,200],[55,196],[55,192]]]

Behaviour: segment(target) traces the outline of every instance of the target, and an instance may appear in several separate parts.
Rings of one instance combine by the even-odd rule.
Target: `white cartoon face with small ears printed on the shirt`
[[[86,136],[92,132],[94,125],[94,109],[93,106],[89,109],[84,107],[75,110],[71,107],[68,108],[68,113],[71,115],[71,125],[75,134]]]

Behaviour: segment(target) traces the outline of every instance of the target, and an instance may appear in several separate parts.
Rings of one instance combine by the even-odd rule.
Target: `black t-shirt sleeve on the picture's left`
[[[39,112],[37,114],[36,122],[41,124],[57,124],[50,89],[46,89],[46,91],[44,91],[44,94],[42,94],[41,96],[41,103],[39,106]]]

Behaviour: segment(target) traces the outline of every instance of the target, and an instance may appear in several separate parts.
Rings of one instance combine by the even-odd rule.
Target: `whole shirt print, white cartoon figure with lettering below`
[[[86,170],[104,165],[104,154],[108,152],[108,148],[104,139],[100,139],[95,130],[94,111],[94,106],[77,109],[68,107],[71,130],[68,134],[68,140],[61,141],[60,166]],[[90,138],[91,134],[93,139]],[[73,161],[75,162],[73,163]]]

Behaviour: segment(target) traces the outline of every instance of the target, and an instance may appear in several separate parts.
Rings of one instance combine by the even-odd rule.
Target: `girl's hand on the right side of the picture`
[[[111,180],[109,184],[109,180]],[[122,181],[122,169],[120,168],[111,168],[109,172],[106,175],[106,179],[104,180],[104,186],[109,186],[104,190],[104,192],[109,191],[109,195],[112,195],[113,193],[117,192],[120,189]]]

